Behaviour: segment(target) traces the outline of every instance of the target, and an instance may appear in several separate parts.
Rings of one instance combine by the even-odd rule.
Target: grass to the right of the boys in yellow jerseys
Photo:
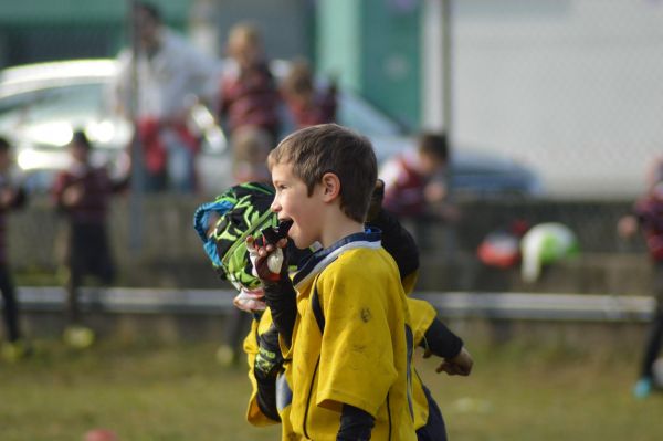
[[[631,396],[636,358],[512,345],[477,351],[467,378],[420,371],[452,440],[661,440],[663,393]]]

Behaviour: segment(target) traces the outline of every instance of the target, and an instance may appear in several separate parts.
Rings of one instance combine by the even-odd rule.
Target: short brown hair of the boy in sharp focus
[[[326,172],[338,176],[340,209],[348,218],[364,222],[378,177],[376,154],[367,137],[336,124],[306,127],[270,153],[270,170],[286,162],[306,183],[308,196]]]

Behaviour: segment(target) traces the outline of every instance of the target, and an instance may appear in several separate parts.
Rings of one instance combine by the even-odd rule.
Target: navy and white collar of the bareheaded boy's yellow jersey
[[[378,249],[381,243],[382,232],[377,228],[367,228],[362,233],[347,235],[329,248],[324,248],[308,256],[293,277],[295,287],[305,286],[313,277],[319,274],[340,254],[357,248]]]

